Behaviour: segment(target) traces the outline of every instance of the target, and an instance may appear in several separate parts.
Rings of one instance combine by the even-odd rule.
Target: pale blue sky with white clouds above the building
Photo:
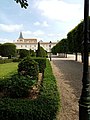
[[[0,0],[0,43],[24,38],[57,42],[84,18],[84,0],[27,0],[21,8],[14,0]]]

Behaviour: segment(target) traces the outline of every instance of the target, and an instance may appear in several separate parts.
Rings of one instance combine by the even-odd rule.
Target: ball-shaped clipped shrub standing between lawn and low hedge
[[[29,75],[31,80],[38,80],[38,63],[30,57],[26,57],[19,63],[18,73],[23,76]]]

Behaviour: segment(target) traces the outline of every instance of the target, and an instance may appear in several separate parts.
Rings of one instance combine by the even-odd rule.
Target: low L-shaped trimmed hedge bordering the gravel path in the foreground
[[[59,106],[59,93],[47,60],[40,95],[30,99],[0,99],[0,120],[53,120]]]

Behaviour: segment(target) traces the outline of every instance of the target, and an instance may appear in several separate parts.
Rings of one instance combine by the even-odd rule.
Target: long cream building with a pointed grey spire
[[[43,47],[47,52],[50,52],[50,49],[56,45],[57,42],[43,42],[43,41],[39,41],[40,42],[40,46]],[[32,39],[32,38],[23,38],[22,32],[20,32],[20,36],[17,39],[16,42],[14,42],[14,44],[16,45],[17,49],[27,49],[27,50],[34,50],[36,51],[38,48],[38,42],[37,39]]]

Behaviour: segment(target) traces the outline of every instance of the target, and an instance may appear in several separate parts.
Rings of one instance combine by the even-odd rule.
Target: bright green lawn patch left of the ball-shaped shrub
[[[18,63],[5,63],[0,64],[0,78],[9,77],[13,73],[17,72]]]

